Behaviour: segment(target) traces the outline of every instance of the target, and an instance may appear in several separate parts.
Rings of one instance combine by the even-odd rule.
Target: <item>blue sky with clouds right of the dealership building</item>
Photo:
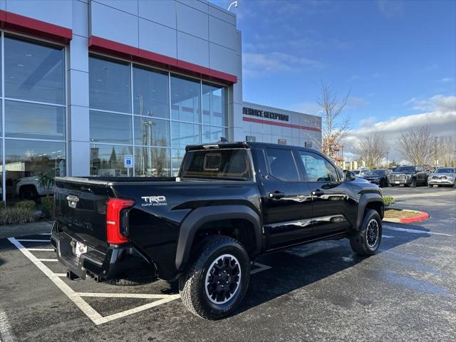
[[[238,4],[244,100],[316,114],[321,81],[340,98],[349,91],[348,153],[361,135],[392,145],[422,125],[456,135],[456,1]]]

